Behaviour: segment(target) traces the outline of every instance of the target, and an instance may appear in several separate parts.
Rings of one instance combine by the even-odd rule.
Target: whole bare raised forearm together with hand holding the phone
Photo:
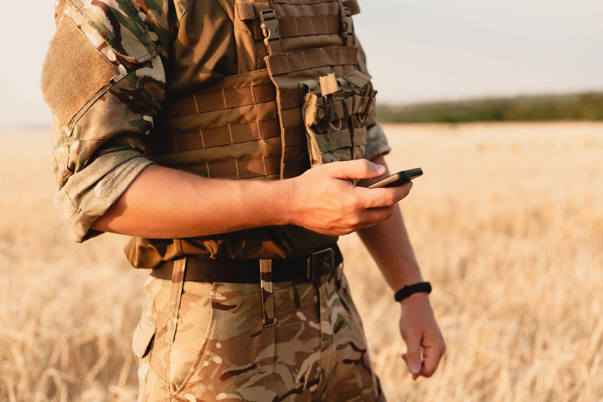
[[[410,186],[355,187],[378,178],[367,160],[333,162],[288,180],[215,180],[150,165],[92,229],[154,239],[225,233],[269,225],[299,225],[318,233],[347,234],[391,216]]]

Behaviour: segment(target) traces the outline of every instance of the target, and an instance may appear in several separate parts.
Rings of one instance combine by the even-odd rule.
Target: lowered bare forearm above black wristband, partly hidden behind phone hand
[[[373,159],[372,162],[387,168],[383,156]],[[388,175],[390,172],[386,171],[383,177]],[[373,181],[378,180],[365,180],[359,185],[367,186]],[[358,235],[394,291],[407,284],[423,281],[399,206],[396,205],[390,219],[361,229],[358,231]]]

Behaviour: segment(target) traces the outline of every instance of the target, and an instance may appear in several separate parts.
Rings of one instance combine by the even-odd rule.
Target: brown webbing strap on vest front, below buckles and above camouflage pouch
[[[268,58],[268,71],[271,75],[281,75],[324,66],[355,66],[357,52],[356,48],[337,47],[274,54]]]

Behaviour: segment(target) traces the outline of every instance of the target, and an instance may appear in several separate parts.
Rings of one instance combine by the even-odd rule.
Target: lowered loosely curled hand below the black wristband
[[[426,293],[415,293],[400,301],[400,304],[400,333],[406,342],[406,353],[402,358],[412,373],[413,380],[420,375],[431,377],[446,351],[446,345],[435,322],[429,298]]]

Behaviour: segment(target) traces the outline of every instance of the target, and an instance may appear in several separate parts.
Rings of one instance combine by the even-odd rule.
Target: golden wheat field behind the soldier
[[[447,343],[412,382],[399,306],[355,234],[345,272],[390,401],[603,400],[603,124],[391,125],[392,171]],[[125,238],[72,242],[49,134],[0,134],[0,401],[132,401],[148,272]]]

